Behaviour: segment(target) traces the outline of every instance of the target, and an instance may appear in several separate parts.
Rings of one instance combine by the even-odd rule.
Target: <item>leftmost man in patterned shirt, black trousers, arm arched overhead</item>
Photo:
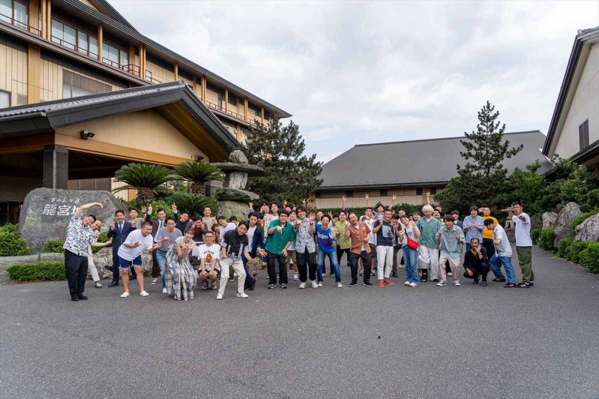
[[[66,240],[62,248],[65,249],[65,272],[68,281],[71,300],[86,300],[83,295],[85,291],[85,281],[87,279],[87,248],[95,242],[93,230],[90,224],[96,221],[94,215],[89,215],[81,219],[83,211],[92,206],[99,206],[104,209],[99,202],[86,203],[81,205],[72,215],[69,226],[66,229]]]

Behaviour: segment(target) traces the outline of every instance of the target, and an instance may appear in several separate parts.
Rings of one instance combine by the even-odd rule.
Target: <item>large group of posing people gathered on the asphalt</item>
[[[237,297],[247,298],[245,291],[255,289],[261,269],[267,269],[268,289],[287,288],[291,271],[300,289],[308,285],[319,288],[326,276],[325,258],[329,259],[329,275],[335,278],[336,287],[343,287],[339,264],[344,253],[351,270],[349,287],[358,285],[358,276],[366,287],[374,285],[371,276],[376,276],[379,287],[394,285],[391,277],[398,277],[398,267],[405,267],[404,285],[409,287],[426,281],[443,287],[448,277],[458,287],[461,275],[485,287],[489,271],[495,276],[492,281],[506,282],[506,288],[533,287],[530,217],[521,203],[504,209],[516,228],[522,269],[522,282],[516,284],[512,248],[489,208],[472,206],[470,215],[461,221],[458,211],[441,218],[440,207],[432,208],[428,193],[427,199],[422,217],[420,212],[407,215],[403,209],[392,211],[395,196],[388,208],[381,203],[373,208],[366,196],[367,208],[360,217],[346,209],[344,197],[338,214],[308,210],[305,203],[291,208],[273,202],[255,211],[250,203],[247,220],[241,221],[236,217],[229,221],[223,216],[215,218],[210,206],[204,208],[203,215],[190,218],[188,212],[179,212],[175,203],[174,217],[167,218],[165,210],[158,209],[157,219],[151,220],[152,206],[144,206],[143,218],[135,208],[129,210],[129,220],[125,211],[116,211],[116,221],[108,229],[110,240],[105,243],[97,242],[101,222],[93,215],[83,217],[85,209],[102,205],[86,204],[72,215],[64,245],[71,299],[87,299],[83,291],[88,266],[96,287],[102,287],[91,247],[110,243],[113,265],[106,267],[112,270],[113,279],[108,287],[119,285],[120,279],[123,298],[130,296],[131,279],[137,279],[141,296],[149,295],[142,273],[144,249],[152,254],[151,284],[162,284],[162,293],[176,300],[193,299],[198,278],[201,290],[217,290],[216,299],[220,300],[227,282],[235,281],[235,276]],[[400,251],[403,256],[398,262]]]

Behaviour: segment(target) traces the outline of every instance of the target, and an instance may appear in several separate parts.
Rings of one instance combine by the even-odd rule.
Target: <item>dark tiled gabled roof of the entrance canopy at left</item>
[[[181,121],[173,115],[173,105],[184,109],[191,120],[214,139],[215,154],[228,154],[229,144],[237,139],[214,116],[183,80],[170,83],[134,87],[101,94],[70,99],[41,102],[30,105],[2,108],[0,111],[0,139],[52,132],[54,129],[89,120],[128,114],[142,109],[156,108],[170,123],[186,130],[189,126],[177,126]],[[218,151],[217,151],[218,150]],[[208,155],[210,156],[210,155]],[[219,158],[223,158],[219,156]],[[224,157],[226,158],[226,156]]]

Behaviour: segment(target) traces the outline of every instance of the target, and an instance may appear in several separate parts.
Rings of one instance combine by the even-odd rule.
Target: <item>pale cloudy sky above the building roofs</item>
[[[547,133],[599,1],[110,0],[143,35],[294,116],[306,153],[461,136],[489,100]],[[284,123],[287,120],[284,120]]]

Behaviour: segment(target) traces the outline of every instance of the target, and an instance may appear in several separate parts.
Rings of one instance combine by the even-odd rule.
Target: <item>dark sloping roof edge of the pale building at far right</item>
[[[555,145],[564,126],[565,117],[574,98],[574,92],[578,86],[580,75],[582,75],[591,44],[598,41],[599,26],[579,31],[574,39],[568,66],[565,69],[564,80],[562,80],[558,100],[555,103],[555,109],[553,109],[551,124],[547,131],[547,139],[543,145],[543,154],[545,156],[553,156],[552,152],[555,150]]]

